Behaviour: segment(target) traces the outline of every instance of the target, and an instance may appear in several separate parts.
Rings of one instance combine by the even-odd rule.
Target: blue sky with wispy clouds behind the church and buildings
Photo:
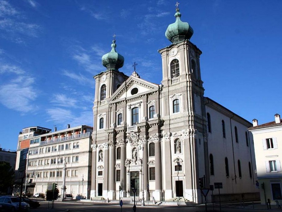
[[[181,20],[203,51],[205,96],[259,124],[282,115],[282,1],[179,1]],[[93,126],[93,75],[103,54],[120,71],[161,83],[158,49],[175,21],[175,1],[0,0],[0,145],[16,149],[28,126]]]

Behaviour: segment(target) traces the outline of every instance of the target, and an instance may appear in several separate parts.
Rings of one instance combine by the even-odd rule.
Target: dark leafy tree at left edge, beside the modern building
[[[14,185],[14,170],[9,162],[0,161],[0,193],[8,193],[8,189],[12,189]]]

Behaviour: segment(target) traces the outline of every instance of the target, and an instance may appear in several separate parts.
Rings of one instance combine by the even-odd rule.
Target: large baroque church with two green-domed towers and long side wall
[[[257,197],[252,124],[204,97],[202,52],[178,6],[174,16],[165,32],[171,44],[159,50],[161,84],[122,73],[115,39],[102,57],[106,70],[94,76],[92,199],[201,203],[201,188],[217,182],[221,200]]]

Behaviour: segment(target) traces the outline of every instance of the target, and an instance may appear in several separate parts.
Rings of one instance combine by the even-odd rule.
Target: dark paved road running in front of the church
[[[51,208],[51,204],[49,205],[48,209],[48,202],[41,201],[41,206],[37,209],[30,209],[30,212],[60,212],[66,211],[69,212],[88,212],[88,211],[95,211],[95,212],[133,212],[132,206],[126,204],[121,207],[117,204],[109,204],[109,203],[81,203],[81,202],[54,202],[54,209]],[[265,212],[265,211],[273,211],[267,210],[264,207],[255,207],[256,209],[252,209],[252,204],[245,204],[245,207],[240,206],[240,204],[224,204],[222,205],[221,212]],[[274,207],[273,207],[274,208]],[[204,205],[196,205],[191,207],[183,207],[183,206],[144,206],[141,207],[137,205],[136,212],[205,212]],[[208,206],[208,212],[213,212],[212,205]],[[281,211],[281,210],[280,210]],[[216,205],[214,208],[214,212],[220,212],[219,207]]]

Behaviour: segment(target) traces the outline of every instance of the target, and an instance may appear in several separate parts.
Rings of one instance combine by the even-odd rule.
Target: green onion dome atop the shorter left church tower
[[[113,40],[111,46],[112,46],[112,51],[103,55],[102,64],[107,68],[107,70],[113,70],[113,69],[118,70],[119,68],[123,67],[124,57],[115,51],[115,47],[117,46],[115,44],[115,39]]]

